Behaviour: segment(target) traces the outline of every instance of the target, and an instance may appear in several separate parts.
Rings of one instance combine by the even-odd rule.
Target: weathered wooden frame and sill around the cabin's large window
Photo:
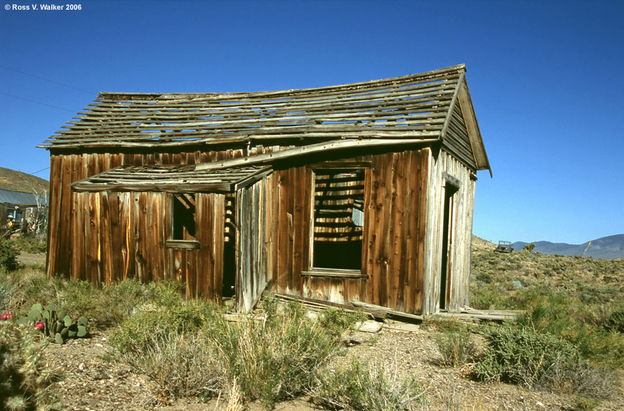
[[[359,171],[364,171],[364,184],[366,184],[366,173],[365,170],[370,169],[371,162],[370,161],[332,161],[324,164],[315,164],[314,166],[309,167],[312,170],[312,179],[310,184],[312,185],[311,189],[311,199],[310,199],[310,231],[309,231],[309,260],[307,261],[307,270],[303,270],[301,275],[303,277],[334,277],[334,278],[345,278],[345,279],[368,279],[368,274],[364,272],[362,266],[359,269],[347,269],[347,268],[325,268],[325,267],[314,267],[314,216],[315,216],[315,184],[316,184],[316,175],[319,171],[335,172],[335,173],[354,173]],[[366,198],[363,199],[363,212],[366,213],[367,203]],[[364,218],[364,221],[367,219]],[[365,226],[362,227],[363,232],[365,231]],[[362,241],[362,252],[364,252],[365,243]],[[361,263],[360,263],[361,265]]]

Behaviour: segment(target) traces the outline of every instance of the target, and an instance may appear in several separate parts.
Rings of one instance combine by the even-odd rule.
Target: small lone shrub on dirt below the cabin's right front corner
[[[477,344],[466,327],[450,329],[435,335],[435,344],[440,356],[440,365],[444,367],[465,365],[474,360],[477,353]]]

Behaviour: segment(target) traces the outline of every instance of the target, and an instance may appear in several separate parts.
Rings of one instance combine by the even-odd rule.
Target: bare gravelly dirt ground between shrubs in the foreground
[[[354,333],[348,342],[347,355],[360,359],[394,364],[399,373],[415,375],[426,387],[424,402],[416,410],[574,410],[574,399],[543,392],[529,392],[514,385],[484,384],[465,377],[467,369],[442,368],[435,362],[433,331],[414,324],[388,322],[379,333]],[[102,359],[106,336],[70,340],[67,344],[49,344],[47,358],[64,373],[55,383],[67,410],[158,410],[225,411],[225,399],[200,403],[196,399],[159,398],[156,387],[145,376],[129,367]],[[261,410],[259,404],[247,410]],[[275,410],[318,410],[306,399],[280,403]],[[603,402],[596,410],[624,410],[624,393]]]

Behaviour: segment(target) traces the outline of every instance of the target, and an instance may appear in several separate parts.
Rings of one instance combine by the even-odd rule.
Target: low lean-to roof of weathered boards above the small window
[[[270,173],[268,166],[197,170],[186,166],[121,166],[73,182],[73,191],[168,191],[232,193]]]

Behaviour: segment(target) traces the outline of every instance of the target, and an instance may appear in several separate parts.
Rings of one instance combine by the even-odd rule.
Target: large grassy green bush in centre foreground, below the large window
[[[243,399],[260,399],[271,408],[309,389],[315,371],[342,348],[342,335],[358,316],[331,310],[312,319],[300,304],[279,310],[271,300],[265,309],[262,320],[220,320],[208,333]]]

